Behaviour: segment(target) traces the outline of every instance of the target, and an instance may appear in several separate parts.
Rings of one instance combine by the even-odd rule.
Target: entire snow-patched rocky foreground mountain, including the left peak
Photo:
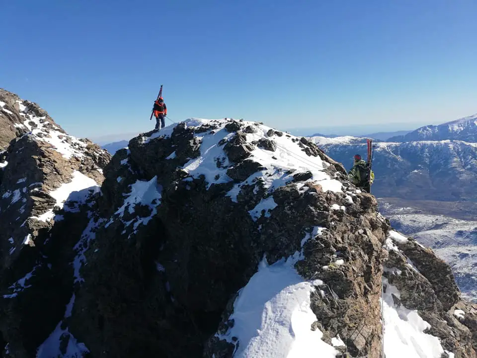
[[[189,119],[131,139],[91,188],[78,173],[104,151],[24,114],[38,131],[8,146],[0,186],[4,357],[475,357],[450,267],[306,138]],[[18,245],[23,194],[48,225]]]

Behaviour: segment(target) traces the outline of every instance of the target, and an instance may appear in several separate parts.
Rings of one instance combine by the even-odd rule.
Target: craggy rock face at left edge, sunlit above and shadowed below
[[[32,357],[71,297],[80,206],[110,155],[11,92],[0,90],[0,106],[0,336],[15,357]]]

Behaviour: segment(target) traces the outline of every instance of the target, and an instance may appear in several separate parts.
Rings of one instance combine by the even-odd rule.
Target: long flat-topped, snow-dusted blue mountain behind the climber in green
[[[353,156],[366,158],[365,139],[310,138],[349,171]],[[377,197],[415,200],[474,200],[477,185],[477,143],[420,141],[375,144],[372,192]]]

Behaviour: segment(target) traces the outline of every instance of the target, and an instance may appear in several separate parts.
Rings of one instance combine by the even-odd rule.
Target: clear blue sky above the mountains
[[[475,0],[22,0],[1,5],[0,87],[68,132],[169,116],[280,129],[477,112]],[[392,128],[391,128],[392,129]]]

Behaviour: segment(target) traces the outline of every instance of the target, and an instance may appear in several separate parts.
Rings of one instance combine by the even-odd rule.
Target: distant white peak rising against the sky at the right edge
[[[477,114],[439,125],[427,125],[403,136],[389,138],[388,142],[460,140],[477,142]]]

